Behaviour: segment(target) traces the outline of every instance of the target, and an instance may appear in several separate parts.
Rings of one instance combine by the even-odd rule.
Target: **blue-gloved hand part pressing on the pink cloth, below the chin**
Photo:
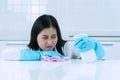
[[[56,52],[56,51],[42,51],[41,52],[41,57],[44,57],[44,56],[48,56],[48,57],[54,57],[54,56],[57,56],[59,57],[60,59],[63,59],[64,56],[61,55],[60,53]]]

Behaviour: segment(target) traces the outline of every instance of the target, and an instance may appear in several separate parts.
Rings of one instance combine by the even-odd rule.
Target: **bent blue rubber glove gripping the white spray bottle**
[[[105,55],[102,45],[97,40],[89,38],[88,36],[82,36],[77,39],[74,46],[78,48],[80,52],[94,49],[97,59],[101,59]]]

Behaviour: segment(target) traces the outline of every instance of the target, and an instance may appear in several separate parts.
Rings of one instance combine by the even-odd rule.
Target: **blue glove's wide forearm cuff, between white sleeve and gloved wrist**
[[[20,52],[20,60],[23,60],[23,61],[41,60],[40,51],[21,50],[21,52]]]

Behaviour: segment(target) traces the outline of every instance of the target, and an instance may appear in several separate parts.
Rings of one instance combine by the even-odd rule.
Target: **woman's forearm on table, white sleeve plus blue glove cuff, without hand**
[[[40,60],[40,52],[30,49],[20,48],[6,48],[1,53],[1,59],[3,60]]]

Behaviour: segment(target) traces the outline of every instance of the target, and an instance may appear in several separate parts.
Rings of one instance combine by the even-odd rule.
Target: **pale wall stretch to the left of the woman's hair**
[[[26,18],[28,8],[27,6],[21,7],[19,0],[16,1],[0,1],[0,40],[29,39],[31,26]],[[17,3],[18,6],[16,6]],[[24,4],[26,4],[26,0]]]

